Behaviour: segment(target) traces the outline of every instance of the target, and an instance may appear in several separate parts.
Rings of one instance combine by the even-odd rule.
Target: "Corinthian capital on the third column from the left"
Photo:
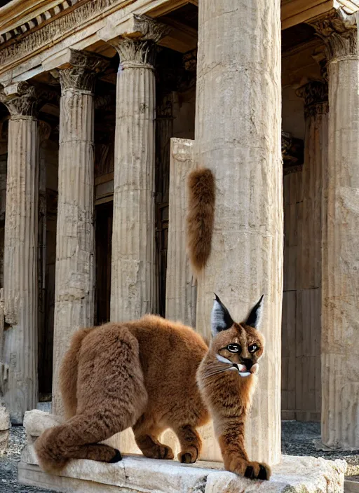
[[[156,43],[170,32],[170,27],[146,15],[133,15],[130,30],[109,41],[120,56],[122,69],[154,66]]]

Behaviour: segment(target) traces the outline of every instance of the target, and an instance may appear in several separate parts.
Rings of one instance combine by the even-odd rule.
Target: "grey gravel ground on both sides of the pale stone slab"
[[[39,406],[42,410],[47,410]],[[13,426],[8,450],[0,456],[0,493],[50,493],[48,489],[18,485],[17,463],[20,452],[26,443],[22,426]],[[359,450],[338,452],[320,450],[320,424],[296,421],[282,422],[282,452],[287,455],[311,455],[324,459],[345,459],[348,462],[348,475],[359,474]],[[354,479],[354,478],[353,478]],[[355,478],[357,479],[357,478]]]

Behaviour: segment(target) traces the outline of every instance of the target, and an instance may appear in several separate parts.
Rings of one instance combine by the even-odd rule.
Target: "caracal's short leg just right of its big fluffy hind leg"
[[[133,433],[137,446],[144,457],[150,459],[173,459],[175,456],[171,447],[163,445],[158,441],[158,436],[164,431],[164,428],[154,424],[151,419],[142,416],[133,426]]]

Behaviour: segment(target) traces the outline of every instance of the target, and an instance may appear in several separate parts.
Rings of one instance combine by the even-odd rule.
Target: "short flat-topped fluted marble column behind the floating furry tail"
[[[165,316],[196,326],[196,280],[186,252],[187,178],[194,169],[194,141],[171,139],[168,263]]]

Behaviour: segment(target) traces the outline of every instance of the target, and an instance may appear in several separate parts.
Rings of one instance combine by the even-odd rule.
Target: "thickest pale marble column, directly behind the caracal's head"
[[[232,4],[199,3],[195,155],[198,166],[215,174],[216,209],[212,254],[198,277],[196,328],[210,335],[213,292],[238,321],[264,294],[266,356],[246,436],[251,460],[276,464],[283,294],[280,1]]]

